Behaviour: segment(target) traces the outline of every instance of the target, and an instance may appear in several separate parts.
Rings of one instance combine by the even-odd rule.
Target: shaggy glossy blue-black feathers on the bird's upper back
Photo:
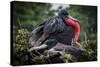
[[[44,33],[54,33],[54,32],[63,32],[66,25],[63,20],[59,17],[52,18],[46,21],[44,24]]]

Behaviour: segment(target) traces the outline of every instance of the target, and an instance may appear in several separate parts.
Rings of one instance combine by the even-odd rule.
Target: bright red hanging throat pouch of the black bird
[[[67,17],[64,19],[64,22],[68,25],[68,26],[72,26],[74,29],[74,38],[72,39],[72,46],[75,46],[75,43],[78,40],[79,37],[79,33],[80,33],[80,25],[78,23],[78,21],[75,21],[74,19]]]

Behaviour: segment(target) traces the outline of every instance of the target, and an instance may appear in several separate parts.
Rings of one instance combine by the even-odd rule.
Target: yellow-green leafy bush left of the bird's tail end
[[[17,36],[14,41],[14,64],[27,64],[28,56],[27,56],[27,38],[29,36],[29,32],[27,29],[19,29],[17,30]]]

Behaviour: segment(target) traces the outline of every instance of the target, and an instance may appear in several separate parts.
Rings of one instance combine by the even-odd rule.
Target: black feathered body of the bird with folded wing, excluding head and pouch
[[[36,29],[32,31],[30,45],[32,42],[43,44],[48,39],[56,39],[58,42],[71,45],[74,37],[73,28],[67,26],[60,17],[45,20]],[[36,43],[34,43],[36,45]]]

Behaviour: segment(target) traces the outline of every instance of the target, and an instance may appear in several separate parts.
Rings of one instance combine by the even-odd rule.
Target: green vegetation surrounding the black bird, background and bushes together
[[[46,18],[54,16],[54,11],[50,10],[51,4],[12,2],[13,20],[13,65],[29,64],[27,53],[27,40],[34,30]],[[80,20],[80,37],[76,47],[83,50],[80,58],[75,58],[69,54],[63,54],[59,58],[64,62],[82,62],[97,60],[97,7],[70,5],[66,8],[71,16]],[[51,59],[45,56],[31,54],[32,64],[52,63]]]

